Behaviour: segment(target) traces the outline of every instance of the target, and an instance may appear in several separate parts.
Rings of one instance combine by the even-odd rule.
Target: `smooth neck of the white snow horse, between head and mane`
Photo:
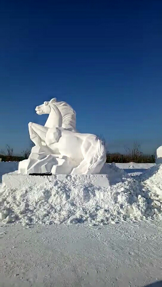
[[[49,117],[44,126],[48,128],[54,128],[58,126],[62,126],[62,115],[55,105],[51,105],[51,111],[49,113]]]

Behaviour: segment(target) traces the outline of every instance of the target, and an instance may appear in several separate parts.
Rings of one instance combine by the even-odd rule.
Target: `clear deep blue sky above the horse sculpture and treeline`
[[[162,144],[162,1],[3,1],[0,149],[21,154],[35,106],[57,97],[110,152]]]

